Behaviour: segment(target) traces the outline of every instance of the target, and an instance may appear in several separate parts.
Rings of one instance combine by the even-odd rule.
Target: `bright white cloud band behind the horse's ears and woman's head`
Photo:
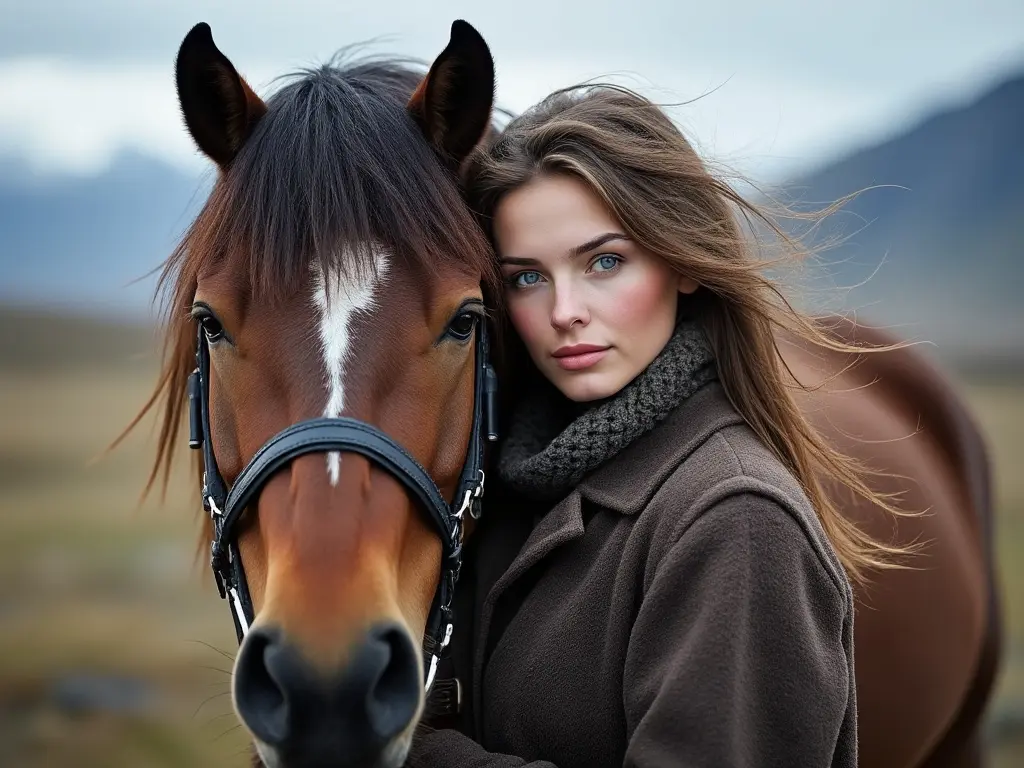
[[[518,112],[555,88],[600,78],[663,103],[690,101],[669,112],[702,153],[742,173],[769,176],[816,162],[837,140],[859,137],[858,130],[870,135],[888,124],[892,108],[871,94],[770,77],[648,72],[641,77],[566,60],[510,59],[500,69],[498,96]],[[248,74],[265,95],[280,73],[267,68]],[[189,171],[207,166],[184,130],[170,68],[0,61],[0,155],[40,173],[93,174],[126,150]]]

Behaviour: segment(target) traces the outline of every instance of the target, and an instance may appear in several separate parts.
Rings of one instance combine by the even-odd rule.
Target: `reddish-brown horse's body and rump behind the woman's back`
[[[846,321],[847,343],[892,344]],[[860,764],[872,768],[982,765],[982,715],[999,656],[992,569],[989,463],[962,398],[909,348],[848,356],[785,338],[812,424],[918,513],[896,520],[860,500],[845,514],[872,537],[920,550],[907,569],[869,573],[855,588]],[[838,493],[838,492],[837,492]],[[842,498],[842,497],[841,497]]]

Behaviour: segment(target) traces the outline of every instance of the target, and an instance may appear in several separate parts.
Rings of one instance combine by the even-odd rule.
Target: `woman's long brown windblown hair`
[[[467,191],[492,238],[490,219],[503,196],[545,173],[585,181],[638,245],[700,286],[687,310],[709,338],[727,396],[796,476],[850,577],[861,581],[868,567],[899,567],[894,556],[908,550],[876,541],[846,519],[825,493],[825,479],[893,514],[906,513],[873,492],[867,470],[827,444],[800,412],[793,388],[805,385],[787,369],[775,332],[844,353],[891,347],[840,340],[766,274],[766,267],[811,254],[776,221],[778,211],[819,220],[845,200],[814,214],[755,205],[709,170],[666,112],[614,85],[556,91],[475,154]],[[762,257],[758,231],[776,236],[779,256]]]

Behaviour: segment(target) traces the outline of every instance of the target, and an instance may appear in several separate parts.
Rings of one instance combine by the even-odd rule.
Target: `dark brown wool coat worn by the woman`
[[[855,768],[849,582],[718,384],[550,510],[495,485],[459,584],[459,730],[409,765]]]

